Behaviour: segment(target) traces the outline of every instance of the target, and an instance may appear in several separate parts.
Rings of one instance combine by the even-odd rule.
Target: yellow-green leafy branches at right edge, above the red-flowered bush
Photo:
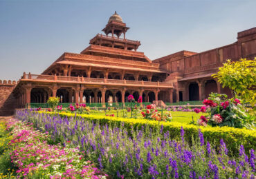
[[[219,72],[213,75],[223,87],[235,91],[244,101],[255,105],[256,57],[254,60],[240,59],[223,63]]]

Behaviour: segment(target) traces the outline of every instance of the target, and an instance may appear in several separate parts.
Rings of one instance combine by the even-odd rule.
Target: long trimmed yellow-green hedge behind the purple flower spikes
[[[234,127],[199,127],[196,125],[186,125],[174,122],[158,122],[155,120],[145,120],[145,119],[135,119],[135,118],[117,118],[110,116],[95,116],[91,114],[73,114],[73,113],[55,113],[55,112],[39,112],[51,115],[60,115],[61,117],[80,117],[85,120],[93,120],[95,123],[100,123],[101,125],[121,125],[123,124],[127,129],[140,129],[140,127],[148,125],[155,129],[154,131],[159,131],[159,127],[163,125],[163,131],[170,131],[170,136],[174,139],[179,139],[181,134],[181,126],[185,131],[185,140],[189,142],[193,138],[198,137],[198,131],[201,129],[203,137],[212,146],[219,147],[219,140],[223,138],[228,149],[232,154],[237,155],[239,145],[244,145],[246,153],[250,149],[256,149],[256,131],[249,129],[237,129]]]

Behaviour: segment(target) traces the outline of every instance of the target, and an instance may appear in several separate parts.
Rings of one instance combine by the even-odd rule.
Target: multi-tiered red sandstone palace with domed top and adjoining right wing
[[[113,14],[102,30],[80,54],[65,52],[42,74],[26,74],[17,84],[0,81],[0,113],[10,106],[25,107],[46,103],[60,96],[62,103],[104,103],[127,101],[133,94],[143,102],[199,101],[210,92],[226,93],[211,75],[226,59],[254,59],[256,28],[237,34],[230,45],[196,53],[176,52],[151,61],[138,52],[140,41],[126,38],[129,30],[122,18]]]

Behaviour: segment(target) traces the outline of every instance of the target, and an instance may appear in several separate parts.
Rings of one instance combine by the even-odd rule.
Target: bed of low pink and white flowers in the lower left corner
[[[33,129],[33,123],[25,125],[10,119],[6,125],[12,134],[8,150],[11,162],[18,168],[18,177],[102,178],[100,171],[84,160],[77,147],[48,145],[48,132]]]

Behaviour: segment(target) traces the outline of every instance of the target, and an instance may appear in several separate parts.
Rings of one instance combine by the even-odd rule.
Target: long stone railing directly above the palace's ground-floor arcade
[[[129,81],[107,78],[84,78],[83,76],[56,76],[43,74],[25,74],[21,77],[21,81],[48,81],[48,82],[68,82],[68,83],[84,83],[98,85],[123,85],[123,86],[152,86],[172,88],[172,83],[153,82],[153,81]]]

